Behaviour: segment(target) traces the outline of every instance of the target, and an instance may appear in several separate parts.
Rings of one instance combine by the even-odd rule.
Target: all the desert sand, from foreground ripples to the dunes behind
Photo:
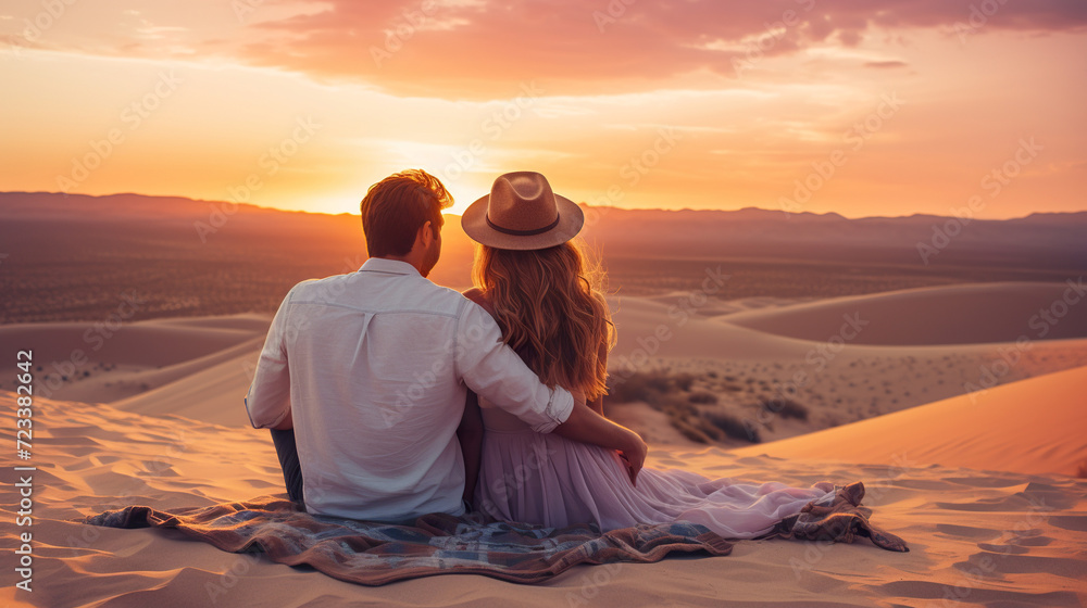
[[[49,392],[35,401],[33,458],[18,463],[38,467],[35,591],[16,596],[7,586],[2,596],[50,607],[1082,606],[1087,480],[1075,476],[1087,459],[1087,340],[1073,329],[1055,333],[1061,325],[1059,339],[1028,327],[1036,307],[1061,295],[1059,286],[989,286],[1003,290],[987,303],[998,309],[977,318],[962,315],[976,302],[955,287],[862,300],[712,302],[684,322],[669,312],[690,304],[690,293],[613,299],[621,332],[613,373],[627,364],[691,373],[696,389],[720,396],[712,407],[747,417],[758,416],[751,400],[773,396],[797,371],[811,376],[795,387],[808,419],[761,420],[766,443],[758,445],[695,445],[660,411],[617,406],[615,417],[650,441],[647,466],[797,485],[860,480],[873,521],[912,550],[751,541],[728,557],[577,567],[534,587],[448,575],[368,588],[174,533],[77,523],[128,504],[201,506],[283,493],[267,432],[248,427],[241,402],[270,318],[126,322],[107,328],[101,342],[86,338],[93,324],[2,326],[3,352],[33,347],[36,384]],[[925,306],[976,322],[935,331],[932,313],[911,313]],[[866,339],[839,347],[832,341],[845,322],[838,318],[854,311],[862,318],[872,311],[858,334]],[[1073,306],[1063,327],[1078,327],[1084,311]],[[1020,333],[1009,333],[1017,319]],[[879,329],[884,322],[894,328]],[[809,328],[815,333],[798,333]],[[1029,347],[1015,349],[1019,334]],[[83,353],[73,358],[76,350]],[[1009,363],[1009,352],[1020,357]],[[1000,360],[1007,365],[994,368]],[[967,394],[986,370],[1000,371],[992,387]],[[13,403],[13,390],[5,380],[0,400]],[[14,443],[13,429],[0,434]],[[17,510],[12,496],[0,509],[8,522]],[[3,530],[4,545],[15,546],[13,527]]]

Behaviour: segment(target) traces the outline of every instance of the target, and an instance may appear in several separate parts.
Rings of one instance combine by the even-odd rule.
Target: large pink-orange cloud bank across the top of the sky
[[[260,65],[358,78],[400,94],[504,96],[528,80],[591,94],[697,74],[727,86],[736,62],[752,54],[855,46],[874,28],[950,33],[958,22],[975,30],[1057,31],[1087,24],[1082,0],[1003,2],[978,0],[979,18],[971,5],[945,0],[322,0],[321,12],[254,26],[262,40],[240,52]]]

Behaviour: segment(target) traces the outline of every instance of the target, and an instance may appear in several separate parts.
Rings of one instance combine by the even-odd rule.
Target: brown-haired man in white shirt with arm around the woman
[[[295,286],[272,321],[246,408],[272,429],[288,495],[309,512],[462,515],[467,389],[539,432],[620,451],[632,478],[645,461],[641,438],[541,384],[490,315],[426,279],[451,204],[422,170],[375,183],[361,205],[370,259]]]

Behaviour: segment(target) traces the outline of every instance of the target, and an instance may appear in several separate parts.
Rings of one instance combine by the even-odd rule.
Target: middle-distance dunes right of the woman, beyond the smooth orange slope
[[[999,341],[1014,333],[1007,319],[1025,321],[1024,311],[1063,294],[1060,287],[950,286],[807,303],[715,302],[689,292],[613,297],[620,338],[609,367],[620,381],[650,370],[690,375],[695,392],[716,400],[701,411],[750,422],[762,441],[774,441],[1087,365],[1085,338]],[[978,297],[985,304],[975,314]],[[1070,308],[1058,327],[1074,329],[1087,317],[1083,305]],[[714,315],[724,308],[746,312]],[[854,328],[844,316],[858,309],[863,325]],[[1047,338],[1053,334],[1055,328]],[[978,343],[947,343],[967,338]],[[762,405],[782,398],[798,403],[807,417],[779,416]],[[613,411],[654,440],[685,441],[648,407]]]

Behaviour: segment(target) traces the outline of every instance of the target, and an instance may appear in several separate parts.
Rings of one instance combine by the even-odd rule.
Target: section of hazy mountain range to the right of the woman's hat
[[[640,211],[592,208],[586,231],[605,246],[661,254],[899,264],[1002,263],[1083,267],[1087,212],[1007,220],[913,215],[848,219],[782,211]],[[682,253],[680,253],[682,252]]]

